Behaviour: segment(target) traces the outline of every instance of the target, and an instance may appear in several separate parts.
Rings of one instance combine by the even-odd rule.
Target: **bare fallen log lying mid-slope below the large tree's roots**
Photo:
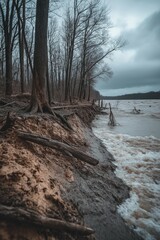
[[[85,154],[82,151],[77,150],[75,147],[69,146],[68,144],[59,142],[57,140],[52,140],[50,138],[41,137],[39,135],[26,133],[26,132],[18,132],[18,136],[22,139],[25,139],[27,141],[31,141],[43,146],[47,146],[53,149],[56,149],[58,151],[61,151],[64,154],[71,154],[73,157],[76,157],[77,159],[80,159],[83,162],[89,163],[93,166],[97,165],[99,161],[87,154]]]

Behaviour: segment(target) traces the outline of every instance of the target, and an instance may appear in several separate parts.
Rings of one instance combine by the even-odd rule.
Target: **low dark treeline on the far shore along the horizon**
[[[101,96],[101,99],[105,100],[125,100],[125,99],[160,99],[160,91],[147,92],[147,93],[133,93],[125,94],[121,96]]]

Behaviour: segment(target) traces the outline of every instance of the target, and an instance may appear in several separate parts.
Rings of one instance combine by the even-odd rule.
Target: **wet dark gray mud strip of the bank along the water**
[[[129,188],[114,174],[114,158],[90,128],[85,129],[88,149],[99,160],[96,167],[75,169],[76,181],[67,186],[67,199],[72,196],[83,213],[85,223],[95,230],[97,240],[140,240],[117,213],[116,207],[129,197]]]

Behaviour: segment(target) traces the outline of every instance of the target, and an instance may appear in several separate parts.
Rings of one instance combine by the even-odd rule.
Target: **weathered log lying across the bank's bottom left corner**
[[[90,235],[94,230],[82,225],[46,217],[38,214],[33,210],[24,210],[18,207],[9,207],[0,204],[0,218],[21,223],[34,224],[43,228],[61,230],[72,233],[79,233],[81,235]]]

